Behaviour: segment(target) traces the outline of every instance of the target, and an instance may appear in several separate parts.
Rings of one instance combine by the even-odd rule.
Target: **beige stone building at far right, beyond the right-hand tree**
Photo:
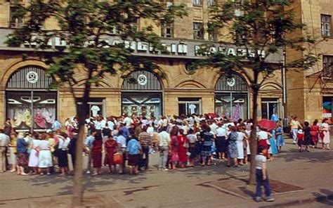
[[[299,22],[307,25],[304,35],[311,35],[318,41],[303,53],[287,50],[287,60],[305,56],[308,51],[320,60],[310,70],[287,73],[287,112],[301,120],[332,117],[332,63],[333,63],[333,4],[330,0],[296,0],[292,4]]]

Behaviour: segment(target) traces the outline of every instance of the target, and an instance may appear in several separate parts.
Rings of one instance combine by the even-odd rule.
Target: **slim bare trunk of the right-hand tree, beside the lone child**
[[[253,105],[253,111],[252,111],[252,119],[253,119],[253,125],[251,130],[251,136],[250,136],[250,150],[251,150],[251,167],[249,172],[249,185],[254,185],[256,182],[256,126],[257,126],[257,115],[258,115],[258,90],[253,90],[253,98],[252,98],[252,105]]]

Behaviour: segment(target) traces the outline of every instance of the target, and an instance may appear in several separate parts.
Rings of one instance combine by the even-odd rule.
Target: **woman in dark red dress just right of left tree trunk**
[[[100,168],[102,167],[102,150],[103,150],[102,135],[96,134],[95,140],[93,141],[93,148],[91,149],[91,158],[93,159],[92,176],[97,176],[98,174],[100,174]]]

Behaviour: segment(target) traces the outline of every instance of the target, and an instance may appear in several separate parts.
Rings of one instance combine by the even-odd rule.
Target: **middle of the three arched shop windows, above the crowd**
[[[122,84],[122,115],[162,115],[162,84],[156,74],[145,70],[131,72],[136,82]]]

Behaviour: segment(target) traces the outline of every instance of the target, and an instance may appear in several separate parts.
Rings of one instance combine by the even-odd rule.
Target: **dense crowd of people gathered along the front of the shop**
[[[268,160],[274,160],[285,145],[280,121],[275,122],[275,128],[259,126],[256,132],[258,146],[266,150],[262,152]],[[252,125],[252,119],[234,121],[210,115],[88,117],[82,145],[88,158],[86,174],[101,174],[103,165],[110,173],[138,174],[150,167],[153,152],[159,153],[160,171],[209,166],[212,160],[226,160],[227,167],[242,166],[249,162],[251,154],[257,153],[249,148]],[[0,134],[0,171],[9,169],[22,176],[69,174],[68,155],[75,169],[78,126],[77,118],[73,117],[66,119],[64,126],[58,122],[45,133],[16,133],[7,119]],[[300,151],[303,147],[310,151],[320,143],[322,148],[329,149],[327,119],[321,125],[315,120],[310,126],[308,122],[301,124],[294,116],[289,131]]]

